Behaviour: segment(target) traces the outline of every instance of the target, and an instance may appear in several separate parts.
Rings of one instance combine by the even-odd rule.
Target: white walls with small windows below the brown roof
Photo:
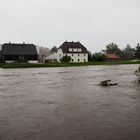
[[[60,62],[61,58],[63,56],[66,56],[66,55],[71,57],[71,62],[75,62],[75,63],[88,62],[88,54],[87,53],[67,53],[67,54],[65,53],[64,54],[62,52],[62,49],[58,49],[57,61]]]

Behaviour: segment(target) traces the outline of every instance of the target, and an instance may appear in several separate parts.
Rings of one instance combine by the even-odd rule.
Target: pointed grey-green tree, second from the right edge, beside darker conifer
[[[131,48],[129,44],[127,44],[126,48],[123,50],[123,58],[124,59],[134,59],[135,57],[135,49]]]

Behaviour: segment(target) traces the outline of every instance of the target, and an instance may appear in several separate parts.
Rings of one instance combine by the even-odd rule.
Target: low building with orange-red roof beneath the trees
[[[119,61],[120,60],[120,57],[118,57],[117,55],[115,54],[104,54],[103,55],[105,61]]]

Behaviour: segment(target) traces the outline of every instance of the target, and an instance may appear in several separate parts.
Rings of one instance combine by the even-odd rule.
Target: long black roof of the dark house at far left
[[[5,43],[2,45],[2,55],[37,55],[34,44]]]

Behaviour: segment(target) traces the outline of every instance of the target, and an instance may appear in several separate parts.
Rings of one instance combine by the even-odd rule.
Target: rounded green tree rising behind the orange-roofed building
[[[120,58],[123,57],[123,51],[118,47],[117,44],[111,43],[106,46],[106,53],[116,54]]]

